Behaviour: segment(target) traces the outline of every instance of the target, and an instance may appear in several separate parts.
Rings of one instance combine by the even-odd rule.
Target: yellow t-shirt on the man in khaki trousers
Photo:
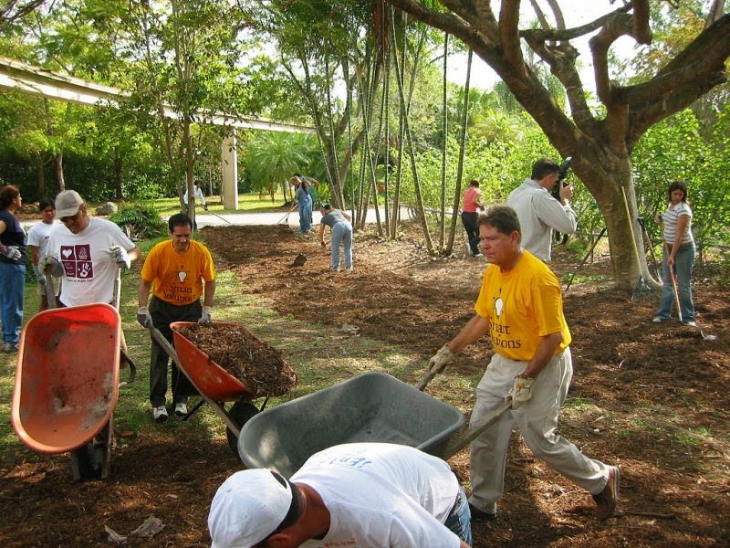
[[[556,353],[571,341],[558,278],[529,251],[508,272],[496,265],[486,268],[474,311],[490,321],[495,353],[511,360],[530,361],[540,337],[550,333],[563,333]]]

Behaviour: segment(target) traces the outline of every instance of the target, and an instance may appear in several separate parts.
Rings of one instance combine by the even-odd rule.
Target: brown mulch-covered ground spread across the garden
[[[287,227],[210,228],[203,237],[222,259],[219,268],[235,269],[246,292],[273,300],[276,310],[355,325],[424,360],[471,317],[485,267],[470,258],[428,258],[417,238],[356,235],[355,271],[334,273],[328,250]],[[308,260],[293,267],[300,252]],[[562,276],[576,263],[558,249],[553,269]],[[605,260],[581,269],[606,271]],[[474,546],[730,545],[730,290],[704,276],[695,272],[695,302],[700,327],[717,335],[713,342],[699,328],[653,324],[656,297],[631,301],[605,283],[568,290],[575,374],[561,433],[590,457],[621,467],[620,512],[597,522],[589,495],[533,458],[515,435],[498,517],[474,524]],[[486,342],[474,344],[451,371],[481,374],[490,355]],[[164,429],[115,448],[105,481],[70,483],[62,458],[18,460],[0,469],[5,546],[110,545],[105,524],[126,534],[151,514],[165,528],[130,544],[206,545],[208,504],[236,468],[224,440],[191,434],[183,441]],[[468,487],[468,454],[450,463]]]

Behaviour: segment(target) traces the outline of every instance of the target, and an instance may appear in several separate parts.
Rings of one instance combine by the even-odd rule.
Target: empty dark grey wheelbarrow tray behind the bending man
[[[314,453],[341,443],[396,443],[442,457],[463,425],[455,407],[389,374],[365,373],[252,417],[238,454],[248,468],[289,478]]]

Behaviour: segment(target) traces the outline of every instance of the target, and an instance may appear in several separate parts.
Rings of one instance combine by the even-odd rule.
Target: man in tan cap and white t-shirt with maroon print
[[[75,190],[56,196],[56,216],[63,227],[51,232],[48,256],[40,259],[38,267],[45,273],[47,266],[53,265],[56,271],[52,273],[63,276],[59,306],[111,303],[117,265],[129,269],[139,260],[140,248],[114,223],[90,217]]]

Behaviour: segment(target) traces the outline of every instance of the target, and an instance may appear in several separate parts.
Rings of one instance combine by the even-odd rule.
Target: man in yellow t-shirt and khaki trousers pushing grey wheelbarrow
[[[516,425],[537,458],[588,490],[600,520],[610,518],[619,496],[620,470],[583,455],[556,434],[560,406],[573,374],[570,332],[555,274],[521,246],[514,209],[491,207],[479,217],[482,253],[490,263],[474,317],[433,356],[443,367],[454,353],[489,333],[495,351],[476,387],[471,423],[512,397],[512,408],[472,442],[472,519],[489,519],[505,487],[507,444]]]

